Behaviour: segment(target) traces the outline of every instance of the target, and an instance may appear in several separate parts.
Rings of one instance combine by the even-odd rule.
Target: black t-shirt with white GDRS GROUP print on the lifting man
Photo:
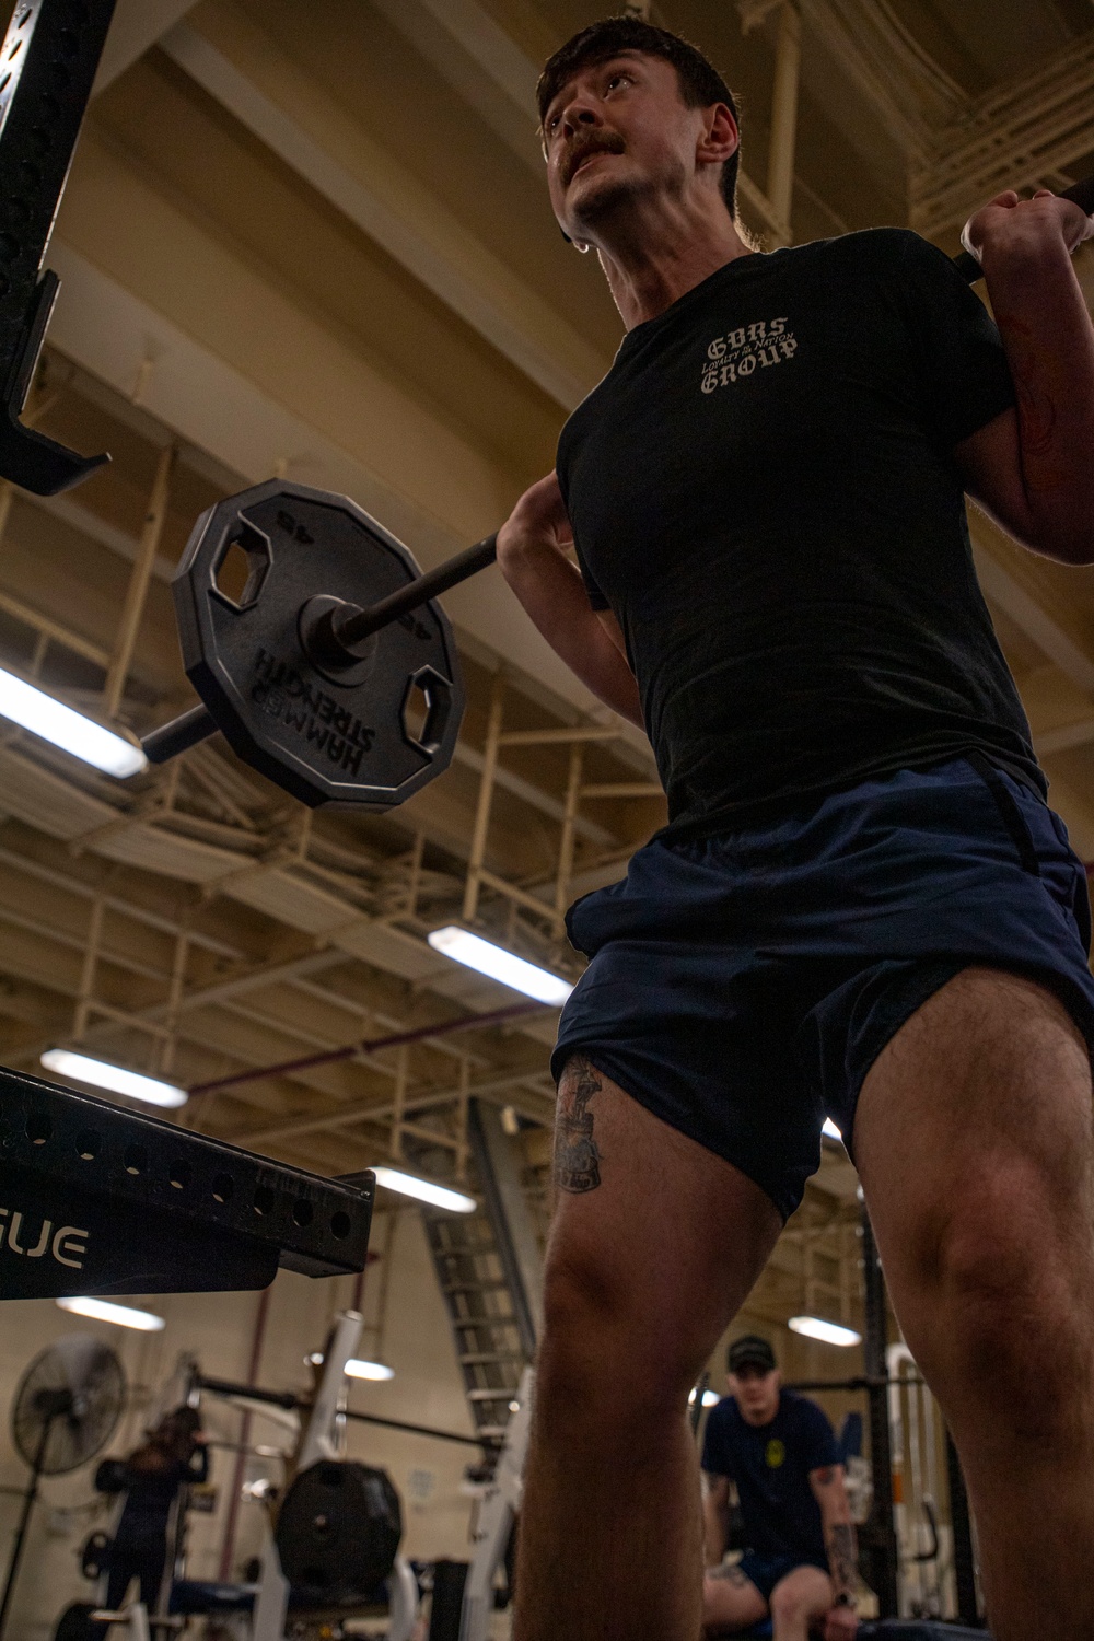
[[[973,750],[1045,793],[951,458],[1012,404],[984,305],[900,228],[740,258],[627,335],[558,474],[672,835]]]

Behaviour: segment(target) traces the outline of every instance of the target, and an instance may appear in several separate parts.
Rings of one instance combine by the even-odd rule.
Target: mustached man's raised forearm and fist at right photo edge
[[[1094,325],[1063,236],[1015,223],[981,251],[1017,394],[1022,481],[1035,538],[1094,551]]]

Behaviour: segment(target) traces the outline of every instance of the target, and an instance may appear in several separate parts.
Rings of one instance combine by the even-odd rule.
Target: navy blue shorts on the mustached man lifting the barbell
[[[969,965],[1048,986],[1094,1047],[1086,873],[1053,811],[964,758],[768,825],[654,839],[571,907],[590,957],[551,1058],[587,1058],[784,1218],[894,1032]]]

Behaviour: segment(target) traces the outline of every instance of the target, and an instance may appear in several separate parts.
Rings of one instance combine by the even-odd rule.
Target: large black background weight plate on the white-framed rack
[[[285,1493],[274,1538],[294,1605],[366,1597],[395,1562],[399,1493],[387,1470],[320,1459]]]

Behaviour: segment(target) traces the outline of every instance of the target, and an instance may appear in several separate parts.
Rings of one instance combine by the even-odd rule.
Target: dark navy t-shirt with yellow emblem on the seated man
[[[828,1569],[810,1470],[840,1464],[832,1424],[809,1396],[779,1393],[769,1424],[748,1424],[733,1396],[707,1418],[702,1467],[736,1483],[745,1541],[758,1556],[792,1556]]]

